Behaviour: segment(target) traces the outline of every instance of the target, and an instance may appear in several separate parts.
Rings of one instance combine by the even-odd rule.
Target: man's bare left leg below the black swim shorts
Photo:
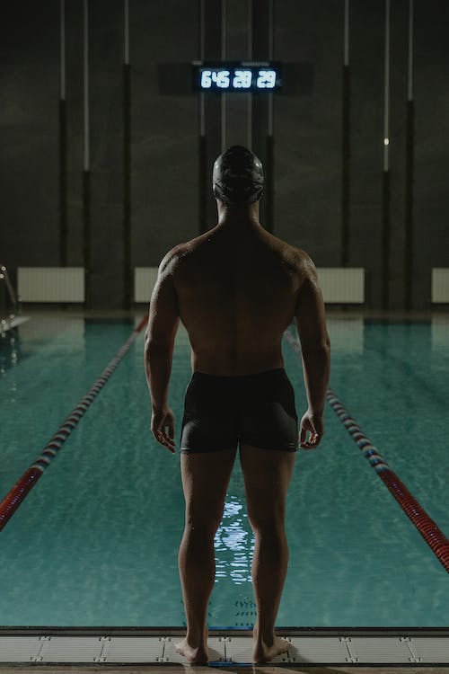
[[[207,662],[207,603],[216,575],[214,537],[223,516],[236,451],[180,455],[186,521],[179,568],[187,634],[176,650],[189,662]]]

